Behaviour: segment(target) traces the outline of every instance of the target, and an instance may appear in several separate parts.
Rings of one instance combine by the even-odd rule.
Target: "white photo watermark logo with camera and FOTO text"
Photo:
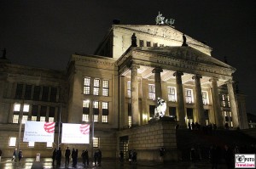
[[[235,168],[255,168],[254,154],[236,154]]]

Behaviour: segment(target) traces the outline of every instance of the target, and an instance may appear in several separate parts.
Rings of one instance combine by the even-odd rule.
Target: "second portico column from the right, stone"
[[[217,78],[212,77],[210,79],[210,82],[212,82],[212,105],[214,110],[214,116],[215,116],[215,123],[217,127],[224,127],[223,121],[224,118],[221,114],[220,109],[220,102],[218,97],[218,85],[217,85]]]

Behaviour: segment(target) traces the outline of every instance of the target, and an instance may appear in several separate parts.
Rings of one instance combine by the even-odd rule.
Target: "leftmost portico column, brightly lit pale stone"
[[[138,110],[137,69],[139,65],[131,65],[131,127],[138,126],[140,117]]]

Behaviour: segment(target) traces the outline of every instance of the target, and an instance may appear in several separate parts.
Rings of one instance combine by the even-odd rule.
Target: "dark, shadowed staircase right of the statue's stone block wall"
[[[188,129],[178,129],[177,149],[182,152],[183,161],[190,160],[191,148],[196,149],[198,159],[208,159],[209,149],[212,145],[217,145],[224,149],[227,144],[230,149],[236,145],[243,149],[249,149],[251,144],[256,146],[256,138],[247,135],[240,130],[215,130],[206,132],[202,130],[190,131]]]

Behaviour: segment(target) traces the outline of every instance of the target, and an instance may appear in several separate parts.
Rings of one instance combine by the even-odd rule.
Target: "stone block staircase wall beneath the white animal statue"
[[[148,125],[133,127],[119,132],[119,137],[128,135],[129,149],[137,151],[137,160],[177,161],[176,122],[160,120]],[[160,148],[166,149],[160,157]]]

